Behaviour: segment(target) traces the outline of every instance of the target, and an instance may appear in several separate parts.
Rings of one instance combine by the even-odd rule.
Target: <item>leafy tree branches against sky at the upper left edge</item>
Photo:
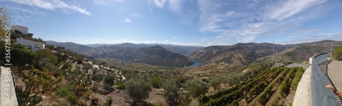
[[[5,37],[5,29],[10,29],[11,16],[3,2],[0,5],[0,19],[0,37]]]

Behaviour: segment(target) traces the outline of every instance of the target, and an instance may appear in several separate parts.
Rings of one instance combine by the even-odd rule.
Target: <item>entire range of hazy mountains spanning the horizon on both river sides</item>
[[[134,60],[153,65],[191,65],[192,59],[206,63],[227,63],[249,65],[257,61],[304,62],[308,57],[329,52],[330,46],[342,46],[342,41],[317,41],[279,45],[274,43],[237,43],[233,46],[174,46],[169,44],[91,44],[46,41],[48,44],[63,46],[85,56],[94,58],[116,58]],[[285,55],[286,54],[286,55]]]

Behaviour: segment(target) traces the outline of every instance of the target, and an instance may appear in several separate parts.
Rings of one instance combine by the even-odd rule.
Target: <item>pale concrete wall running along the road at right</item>
[[[312,65],[308,67],[298,84],[293,99],[293,106],[337,106],[335,95],[326,85],[330,84],[321,72],[319,64],[328,60],[329,54],[319,54],[312,58]]]

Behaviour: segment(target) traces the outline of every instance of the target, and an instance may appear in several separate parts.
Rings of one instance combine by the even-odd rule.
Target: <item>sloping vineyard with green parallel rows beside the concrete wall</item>
[[[267,69],[252,79],[213,95],[201,95],[200,105],[282,105],[291,90],[297,88],[304,73],[302,67]]]

